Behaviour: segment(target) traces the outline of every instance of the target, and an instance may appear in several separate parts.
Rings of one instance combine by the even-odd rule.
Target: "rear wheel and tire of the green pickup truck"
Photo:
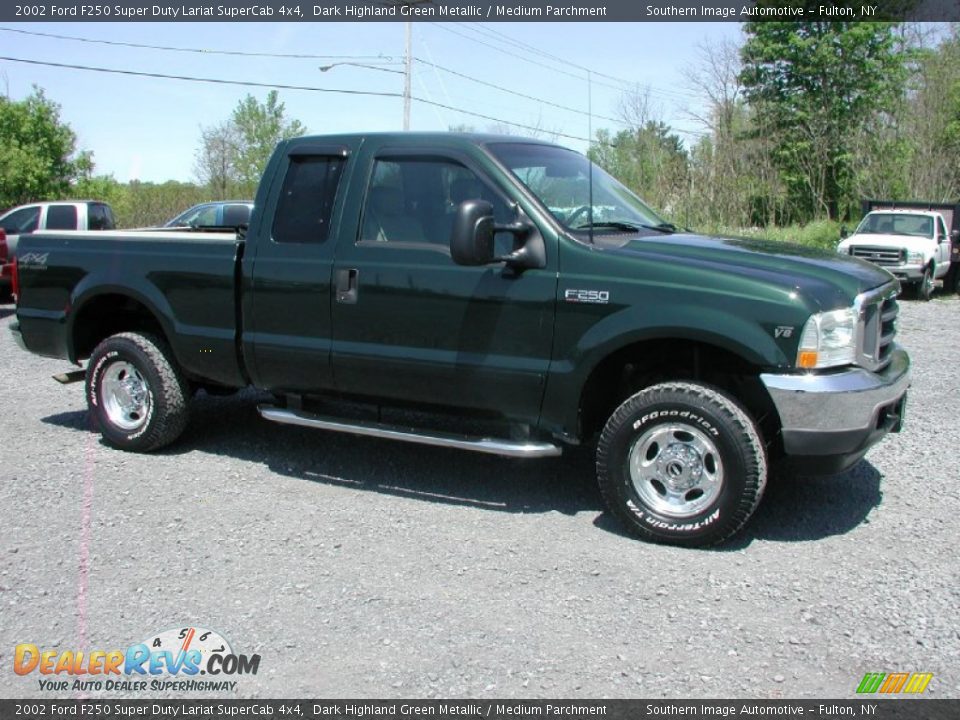
[[[171,357],[163,341],[140,333],[97,345],[87,365],[87,407],[109,444],[149,452],[186,428],[190,395]]]

